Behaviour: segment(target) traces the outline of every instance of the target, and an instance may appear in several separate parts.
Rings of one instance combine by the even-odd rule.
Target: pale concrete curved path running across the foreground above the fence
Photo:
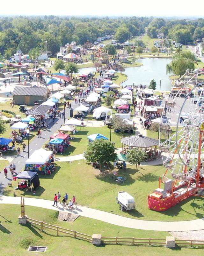
[[[0,204],[19,204],[20,197],[12,196],[0,196]],[[25,197],[25,205],[36,206],[46,209],[51,209],[55,211],[66,211],[72,212],[84,217],[92,218],[95,220],[101,220],[113,225],[135,228],[143,230],[154,230],[154,231],[192,231],[204,229],[204,218],[198,220],[188,220],[188,221],[152,221],[152,220],[137,220],[132,218],[123,217],[109,212],[99,211],[96,209],[79,206],[73,208],[72,210],[67,210],[58,204],[58,207],[52,206],[53,201],[29,198]],[[26,207],[25,207],[26,211]],[[20,208],[19,208],[20,213]]]

